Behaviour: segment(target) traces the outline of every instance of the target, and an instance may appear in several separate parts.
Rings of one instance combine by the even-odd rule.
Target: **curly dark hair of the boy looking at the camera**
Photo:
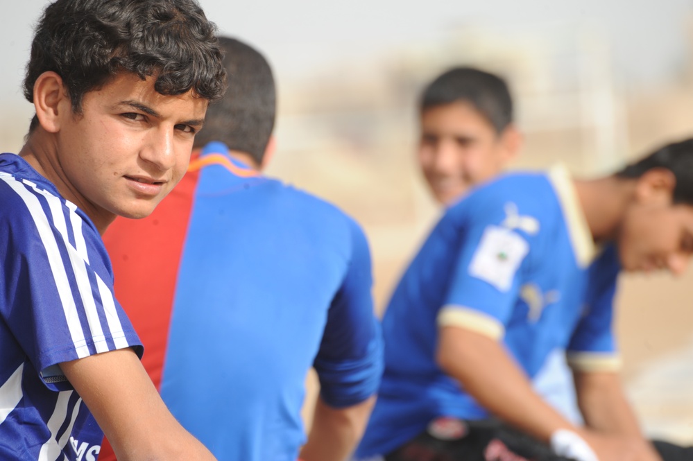
[[[216,26],[195,0],[57,0],[46,7],[26,64],[24,96],[54,71],[81,113],[85,93],[121,71],[156,76],[160,94],[214,101],[225,89]],[[37,125],[36,116],[29,131]]]

